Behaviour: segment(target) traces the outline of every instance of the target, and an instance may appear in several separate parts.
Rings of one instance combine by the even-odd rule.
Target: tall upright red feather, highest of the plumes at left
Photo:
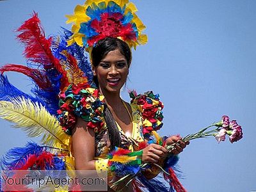
[[[45,69],[56,68],[61,77],[61,88],[68,85],[67,72],[60,65],[60,60],[55,58],[51,52],[52,38],[45,38],[45,32],[40,24],[37,13],[28,19],[17,29],[20,34],[17,38],[25,45],[24,55],[36,64],[41,64]]]

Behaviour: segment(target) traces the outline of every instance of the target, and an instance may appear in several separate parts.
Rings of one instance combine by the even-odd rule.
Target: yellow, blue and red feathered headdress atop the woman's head
[[[76,44],[92,51],[93,45],[107,36],[120,38],[129,47],[147,43],[143,22],[136,15],[136,6],[129,0],[87,0],[77,5],[74,15],[67,15],[67,23],[73,22],[74,33],[68,45]]]

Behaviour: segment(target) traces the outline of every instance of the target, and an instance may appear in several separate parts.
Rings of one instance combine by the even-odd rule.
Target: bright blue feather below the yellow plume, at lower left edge
[[[43,148],[35,142],[30,141],[26,147],[16,147],[10,149],[1,159],[1,168],[3,170],[14,170],[17,164],[25,164],[31,154],[40,154]]]

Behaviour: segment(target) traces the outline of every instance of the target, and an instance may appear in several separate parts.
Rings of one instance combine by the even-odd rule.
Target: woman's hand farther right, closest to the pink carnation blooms
[[[169,138],[166,139],[166,145],[174,145],[174,149],[172,150],[172,154],[179,154],[180,152],[183,151],[183,149],[189,145],[189,141],[183,142],[182,138],[180,136],[170,136]]]

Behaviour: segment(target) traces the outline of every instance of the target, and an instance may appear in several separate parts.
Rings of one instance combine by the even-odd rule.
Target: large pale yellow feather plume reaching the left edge
[[[41,141],[47,146],[68,150],[70,137],[42,104],[24,98],[0,101],[0,117],[22,128],[29,137],[42,136]]]

